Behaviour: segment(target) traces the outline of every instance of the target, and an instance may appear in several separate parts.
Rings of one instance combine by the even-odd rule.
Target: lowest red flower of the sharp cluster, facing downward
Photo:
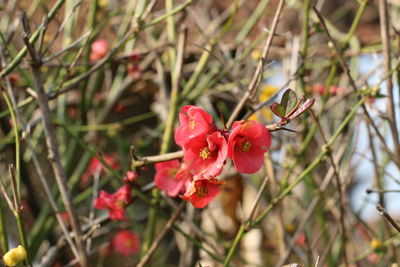
[[[219,194],[219,187],[223,184],[224,182],[217,179],[195,180],[189,184],[186,193],[181,198],[190,201],[196,208],[202,209]]]

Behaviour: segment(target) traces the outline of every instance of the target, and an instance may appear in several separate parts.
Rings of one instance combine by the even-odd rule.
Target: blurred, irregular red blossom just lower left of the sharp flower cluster
[[[125,220],[125,207],[132,200],[131,189],[130,185],[125,184],[114,194],[101,190],[94,200],[94,207],[98,210],[108,209],[111,220]]]

